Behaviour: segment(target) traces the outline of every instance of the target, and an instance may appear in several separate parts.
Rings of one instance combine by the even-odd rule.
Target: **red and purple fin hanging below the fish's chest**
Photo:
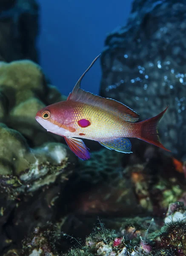
[[[83,140],[64,137],[69,148],[82,160],[87,160],[90,158],[89,148],[86,147]]]

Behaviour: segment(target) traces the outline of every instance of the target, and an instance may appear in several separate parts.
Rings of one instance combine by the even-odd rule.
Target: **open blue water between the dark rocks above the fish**
[[[40,65],[52,84],[68,95],[81,74],[102,51],[106,35],[126,24],[132,0],[38,0],[41,5]],[[116,4],[117,3],[117,4]],[[100,59],[82,80],[99,93]]]

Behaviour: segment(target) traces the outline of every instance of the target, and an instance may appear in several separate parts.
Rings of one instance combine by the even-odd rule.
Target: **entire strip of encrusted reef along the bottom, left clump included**
[[[171,211],[173,210],[173,212]],[[183,204],[170,205],[168,215],[186,212]],[[185,213],[184,213],[185,214]],[[86,237],[85,244],[59,232],[59,227],[34,228],[29,238],[23,240],[23,249],[19,256],[184,256],[186,255],[186,221],[172,220],[166,224],[163,219],[123,218],[123,227],[119,231],[109,230],[99,221],[94,231]],[[130,227],[130,229],[129,229]],[[78,248],[68,253],[60,251],[63,238],[74,239]],[[83,245],[84,244],[84,245]],[[8,256],[5,254],[4,256]],[[10,254],[11,255],[11,254]]]

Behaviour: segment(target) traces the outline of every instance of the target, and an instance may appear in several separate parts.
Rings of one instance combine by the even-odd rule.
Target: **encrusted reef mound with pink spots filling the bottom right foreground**
[[[183,204],[172,204],[174,212]],[[176,210],[177,207],[177,210]],[[170,212],[169,212],[170,214]],[[158,223],[159,222],[159,223]],[[145,218],[126,219],[120,232],[106,229],[100,223],[86,238],[86,246],[71,249],[66,256],[107,255],[107,256],[184,256],[186,255],[186,220],[172,220],[170,224],[160,221],[147,221]]]

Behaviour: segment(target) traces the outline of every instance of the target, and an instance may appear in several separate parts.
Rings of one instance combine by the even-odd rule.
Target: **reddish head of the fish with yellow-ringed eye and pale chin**
[[[64,104],[58,102],[40,109],[35,116],[37,122],[47,131],[60,136],[68,136],[69,130],[64,125],[67,111]]]

